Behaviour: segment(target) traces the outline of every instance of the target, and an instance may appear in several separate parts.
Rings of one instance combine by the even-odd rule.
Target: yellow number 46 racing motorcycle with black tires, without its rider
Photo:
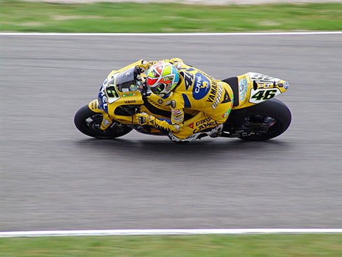
[[[77,129],[98,139],[114,139],[136,130],[153,135],[167,135],[173,141],[190,142],[210,136],[213,120],[192,122],[198,112],[185,108],[184,126],[193,128],[190,137],[177,140],[171,133],[163,132],[150,125],[139,125],[133,120],[135,113],[147,113],[157,118],[170,119],[171,96],[159,97],[145,84],[146,74],[138,68],[141,61],[120,70],[112,70],[98,94],[98,99],[83,106],[74,115]],[[260,73],[246,73],[228,77],[232,91],[232,108],[227,111],[228,119],[223,124],[220,137],[237,137],[246,141],[263,141],[282,134],[291,123],[289,108],[277,99],[284,93],[289,83]],[[172,93],[171,93],[172,94]]]

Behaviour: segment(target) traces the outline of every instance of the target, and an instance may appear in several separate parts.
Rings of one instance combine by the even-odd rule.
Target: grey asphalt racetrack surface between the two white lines
[[[341,228],[341,49],[342,35],[0,36],[0,231]],[[287,80],[289,130],[180,146],[74,127],[110,70],[176,56]]]

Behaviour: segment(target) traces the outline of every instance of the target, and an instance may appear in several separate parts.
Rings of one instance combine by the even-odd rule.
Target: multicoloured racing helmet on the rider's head
[[[146,84],[154,94],[166,96],[178,84],[178,70],[171,63],[159,61],[147,70]]]

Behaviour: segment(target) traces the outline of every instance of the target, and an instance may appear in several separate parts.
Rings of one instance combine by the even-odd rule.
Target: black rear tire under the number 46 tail
[[[291,111],[277,99],[270,99],[261,104],[246,108],[245,120],[251,123],[267,125],[267,132],[239,137],[246,141],[264,141],[284,133],[291,123]]]

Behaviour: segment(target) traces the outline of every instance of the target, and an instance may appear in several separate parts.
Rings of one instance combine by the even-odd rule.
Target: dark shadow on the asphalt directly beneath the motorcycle
[[[169,139],[84,139],[75,142],[81,149],[91,149],[103,153],[121,153],[123,155],[155,156],[208,156],[215,153],[263,153],[289,151],[291,143],[279,139],[265,142],[244,142],[240,139],[198,140],[189,144],[175,144]]]

